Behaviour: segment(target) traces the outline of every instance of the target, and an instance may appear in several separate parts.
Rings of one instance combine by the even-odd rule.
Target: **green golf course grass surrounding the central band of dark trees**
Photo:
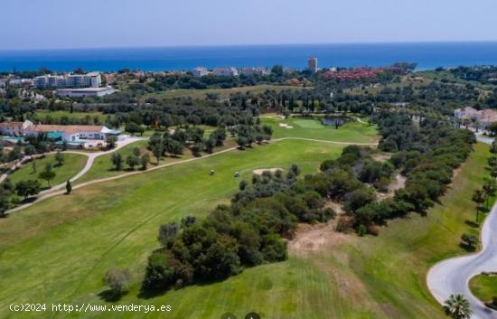
[[[379,138],[375,127],[358,122],[337,130],[312,118],[262,122],[274,127],[274,141],[267,145],[94,183],[0,220],[0,317],[101,318],[98,312],[13,313],[8,305],[111,305],[98,295],[106,290],[106,271],[118,267],[128,268],[132,277],[117,304],[171,305],[172,311],[106,312],[106,318],[219,319],[226,312],[242,317],[250,311],[271,319],[445,318],[427,289],[427,269],[464,254],[461,234],[477,231],[465,221],[474,219],[471,194],[488,174],[488,145],[474,146],[426,217],[411,213],[391,220],[379,236],[333,235],[326,249],[291,250],[285,262],[251,267],[221,282],[139,295],[147,257],[159,248],[160,225],[185,216],[202,218],[230,202],[253,170],[298,164],[303,174],[312,174],[324,160],[338,157],[346,143],[374,144]],[[81,181],[112,175],[106,173],[106,156]]]

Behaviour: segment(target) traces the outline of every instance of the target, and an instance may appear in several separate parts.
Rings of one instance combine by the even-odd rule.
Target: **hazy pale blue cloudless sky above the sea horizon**
[[[0,50],[496,41],[496,0],[0,0]]]

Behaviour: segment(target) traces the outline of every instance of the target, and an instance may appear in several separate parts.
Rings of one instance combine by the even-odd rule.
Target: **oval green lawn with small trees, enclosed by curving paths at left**
[[[78,154],[62,153],[64,156],[64,164],[57,165],[55,155],[46,155],[44,158],[34,160],[36,163],[36,172],[33,172],[33,163],[24,164],[23,167],[9,175],[13,183],[18,183],[25,180],[38,180],[42,183],[42,187],[47,187],[47,182],[40,179],[38,175],[45,169],[46,164],[52,164],[55,178],[51,181],[52,185],[57,185],[69,180],[72,176],[78,174],[86,164],[87,156]]]

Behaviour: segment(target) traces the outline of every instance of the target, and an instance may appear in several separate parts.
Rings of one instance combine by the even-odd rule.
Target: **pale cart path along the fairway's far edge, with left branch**
[[[273,142],[281,142],[281,141],[286,141],[286,140],[301,140],[301,141],[310,141],[310,142],[318,142],[318,143],[328,143],[328,144],[336,144],[336,145],[369,145],[369,146],[376,146],[376,145],[378,145],[378,143],[338,142],[338,141],[328,141],[328,140],[314,139],[314,138],[304,138],[304,137],[282,137],[282,138],[274,139]],[[120,147],[122,147],[122,146],[123,145],[121,145]],[[211,156],[216,156],[216,155],[224,154],[224,153],[227,153],[227,152],[231,152],[231,151],[236,150],[236,149],[238,149],[238,146],[233,146],[233,147],[224,149],[222,151],[219,151],[219,152],[216,152],[216,153],[213,153],[213,154],[204,155],[202,157],[193,157],[193,158],[189,158],[189,159],[186,159],[186,160],[183,160],[183,161],[178,161],[178,162],[173,162],[173,163],[168,163],[168,164],[157,165],[155,167],[149,168],[146,171],[135,171],[135,172],[130,172],[130,173],[126,173],[126,174],[120,174],[120,175],[117,175],[117,176],[111,176],[111,177],[107,177],[107,178],[101,178],[101,179],[89,181],[89,182],[86,182],[86,183],[80,183],[78,185],[72,186],[72,190],[74,191],[74,190],[77,190],[77,189],[79,189],[81,187],[85,187],[85,186],[88,186],[88,185],[91,185],[91,184],[94,184],[94,183],[103,183],[103,182],[113,181],[113,180],[117,180],[117,179],[124,178],[124,177],[127,177],[127,176],[135,175],[135,174],[144,174],[146,172],[155,171],[155,170],[158,170],[158,169],[161,169],[161,168],[164,168],[164,167],[168,167],[168,166],[173,166],[173,165],[178,165],[178,164],[184,164],[184,163],[189,163],[189,162],[193,162],[193,161],[198,161],[198,160],[202,160],[204,158],[209,158]],[[93,160],[95,159],[95,157],[97,157],[99,155],[108,154],[108,153],[111,153],[111,152],[114,152],[114,151],[116,151],[116,149],[114,149],[112,151],[108,151],[108,152],[101,152],[101,153],[96,154],[96,156],[89,157],[89,161],[87,162],[87,165],[85,165],[85,168],[83,168],[83,170],[79,174],[77,174],[76,176],[74,176],[70,181],[71,182],[76,181],[78,178],[80,178],[80,176],[82,176],[83,174],[85,174],[86,172],[88,172],[89,168],[91,167],[91,164],[93,164]],[[56,185],[56,186],[52,187],[50,190],[47,190],[47,191],[44,191],[44,192],[40,192],[40,194],[38,195],[38,197],[36,198],[35,201],[23,204],[21,206],[17,206],[17,207],[15,207],[14,209],[12,209],[10,211],[6,211],[5,213],[12,213],[14,211],[21,211],[21,210],[23,210],[23,209],[25,209],[27,207],[32,206],[33,204],[35,204],[37,202],[42,202],[42,201],[44,201],[44,200],[46,200],[48,198],[51,198],[53,196],[56,196],[56,195],[61,195],[61,194],[63,194],[65,192],[65,190],[61,190],[64,186],[65,186],[65,183],[61,183],[59,185]]]

